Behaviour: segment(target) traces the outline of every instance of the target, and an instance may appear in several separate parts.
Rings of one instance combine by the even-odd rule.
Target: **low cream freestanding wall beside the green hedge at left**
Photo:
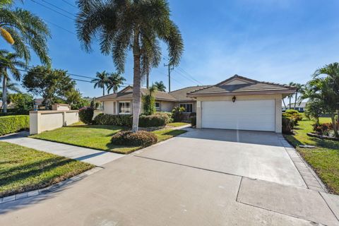
[[[69,126],[78,121],[78,111],[31,111],[30,134]]]

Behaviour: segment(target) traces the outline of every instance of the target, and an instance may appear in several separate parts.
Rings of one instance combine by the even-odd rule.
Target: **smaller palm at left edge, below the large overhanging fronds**
[[[20,61],[18,54],[10,53],[4,49],[0,50],[0,79],[2,80],[2,111],[7,112],[7,81],[9,80],[8,70],[16,81],[20,81],[20,71],[17,66],[25,67],[25,63]]]

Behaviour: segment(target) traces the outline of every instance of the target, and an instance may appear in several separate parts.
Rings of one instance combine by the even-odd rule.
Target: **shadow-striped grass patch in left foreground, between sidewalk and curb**
[[[93,167],[85,162],[0,142],[0,197],[42,189]]]

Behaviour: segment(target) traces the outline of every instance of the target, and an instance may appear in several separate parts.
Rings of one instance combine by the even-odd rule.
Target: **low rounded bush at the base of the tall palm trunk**
[[[149,146],[157,143],[157,136],[148,131],[121,131],[112,136],[114,145]]]

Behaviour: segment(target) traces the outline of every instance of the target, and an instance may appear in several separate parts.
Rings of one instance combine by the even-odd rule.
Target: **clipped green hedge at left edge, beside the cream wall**
[[[30,117],[28,115],[0,117],[0,136],[28,128],[30,128]]]

